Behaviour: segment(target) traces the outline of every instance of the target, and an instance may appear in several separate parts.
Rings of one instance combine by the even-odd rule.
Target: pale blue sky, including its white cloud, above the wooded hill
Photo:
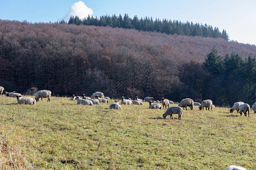
[[[206,23],[225,29],[230,40],[256,45],[256,0],[0,0],[1,20],[54,23],[114,14]]]

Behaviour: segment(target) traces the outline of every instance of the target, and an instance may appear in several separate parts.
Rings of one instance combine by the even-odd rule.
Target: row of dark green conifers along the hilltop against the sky
[[[64,20],[60,23],[65,23]],[[130,18],[128,14],[123,17],[121,14],[116,15],[102,15],[100,18],[97,16],[88,15],[87,18],[79,18],[79,16],[71,16],[69,18],[68,24],[76,25],[96,25],[96,26],[109,26],[127,29],[137,29],[139,31],[156,31],[161,33],[167,33],[168,35],[175,33],[177,35],[186,36],[202,36],[202,37],[213,37],[222,38],[224,40],[229,40],[228,33],[225,29],[221,32],[218,27],[212,27],[212,25],[207,24],[194,24],[193,22],[183,23],[178,20],[167,20],[167,19],[155,19],[152,17],[145,17],[144,19],[139,19],[137,15],[134,18]]]

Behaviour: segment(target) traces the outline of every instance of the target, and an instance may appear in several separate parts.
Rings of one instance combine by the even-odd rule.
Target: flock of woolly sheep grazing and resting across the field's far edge
[[[0,94],[3,95],[3,90],[4,88],[0,86]],[[16,93],[16,92],[5,92],[6,96],[9,97],[16,97],[18,104],[31,104],[34,105],[36,104],[36,101],[43,100],[43,98],[47,98],[47,101],[51,101],[52,92],[49,90],[40,90],[38,91],[34,96],[35,98],[32,97],[22,97],[21,94]],[[92,96],[87,97],[85,94],[82,96],[75,96],[72,95],[69,100],[76,100],[77,104],[82,104],[82,105],[94,105],[94,104],[100,104],[100,103],[109,103],[110,98],[105,97],[102,92],[95,92]],[[212,100],[204,100],[201,103],[194,102],[192,99],[183,99],[180,101],[180,103],[174,103],[171,100],[164,99],[162,97],[162,101],[154,101],[153,97],[144,97],[144,100],[139,99],[138,96],[135,97],[135,100],[125,99],[125,97],[121,97],[121,105],[143,105],[143,102],[148,102],[149,109],[167,109],[166,112],[163,114],[163,118],[166,118],[168,115],[170,115],[170,118],[172,119],[172,114],[178,114],[178,120],[181,119],[181,115],[183,114],[183,109],[187,110],[187,107],[189,107],[191,110],[195,105],[199,106],[200,111],[204,108],[208,111],[214,107]],[[162,103],[160,105],[159,103]],[[170,104],[178,104],[177,106],[170,107]],[[119,104],[119,100],[114,100],[114,103],[109,106],[109,109],[122,109],[121,105]],[[252,109],[254,113],[256,113],[256,102],[253,104]],[[248,117],[250,116],[250,105],[243,103],[242,101],[234,103],[233,107],[230,109],[230,113],[233,111],[240,112],[241,116],[242,113],[247,116],[248,112]]]

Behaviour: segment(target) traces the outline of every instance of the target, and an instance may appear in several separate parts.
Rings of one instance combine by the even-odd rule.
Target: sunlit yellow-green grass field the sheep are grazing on
[[[164,120],[166,109],[147,109],[148,103],[115,111],[108,109],[113,100],[85,106],[68,99],[18,105],[15,98],[0,96],[0,136],[40,169],[256,167],[253,111],[248,118],[229,108],[195,107],[184,111],[181,120],[177,114]],[[4,169],[10,163],[1,155]]]

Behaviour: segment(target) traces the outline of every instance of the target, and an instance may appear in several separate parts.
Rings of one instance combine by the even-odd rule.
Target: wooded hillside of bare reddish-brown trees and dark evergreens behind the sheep
[[[0,20],[0,86],[215,105],[256,96],[256,47],[221,38]]]

